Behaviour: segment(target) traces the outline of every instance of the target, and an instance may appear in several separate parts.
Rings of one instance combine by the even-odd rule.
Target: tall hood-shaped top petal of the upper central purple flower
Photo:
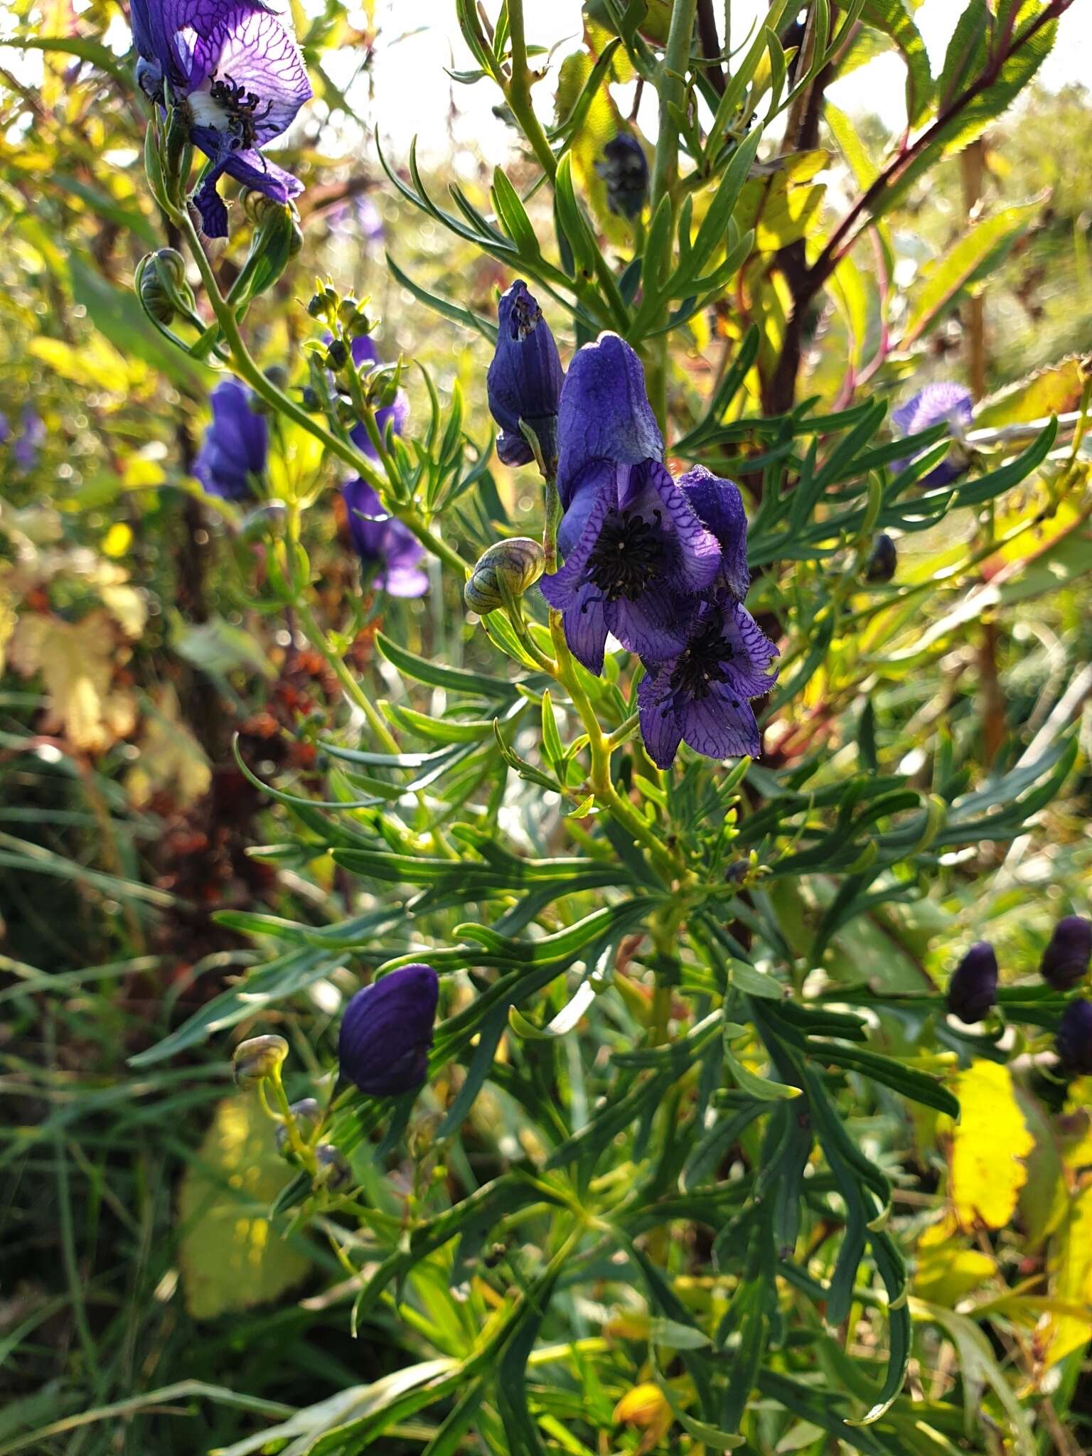
[[[569,364],[558,409],[558,492],[568,507],[591,460],[662,460],[664,440],[645,392],[641,360],[617,333],[585,344]]]

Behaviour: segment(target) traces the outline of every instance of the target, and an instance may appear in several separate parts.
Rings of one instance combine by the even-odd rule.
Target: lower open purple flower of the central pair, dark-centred
[[[683,651],[645,662],[638,711],[652,763],[670,769],[680,743],[708,759],[757,757],[761,743],[748,699],[776,681],[775,657],[778,648],[734,597],[703,601]]]

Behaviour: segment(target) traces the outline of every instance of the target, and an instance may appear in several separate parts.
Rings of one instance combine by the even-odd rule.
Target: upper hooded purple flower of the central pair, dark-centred
[[[724,569],[722,550],[660,462],[641,361],[617,335],[577,352],[558,425],[565,565],[542,578],[542,594],[593,673],[603,671],[607,633],[657,662],[676,657],[697,597]]]

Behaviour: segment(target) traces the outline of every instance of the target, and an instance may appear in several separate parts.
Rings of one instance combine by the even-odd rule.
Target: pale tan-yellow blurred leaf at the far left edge
[[[119,652],[105,612],[76,623],[28,613],[15,630],[10,655],[23,677],[42,677],[48,732],[63,732],[74,748],[102,751],[132,731],[132,697],[111,689],[115,662],[127,654]]]

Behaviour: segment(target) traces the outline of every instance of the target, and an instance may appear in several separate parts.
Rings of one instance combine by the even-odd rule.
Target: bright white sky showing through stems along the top
[[[488,4],[488,9],[495,6]],[[763,0],[732,0],[737,36],[743,38],[767,9]],[[470,68],[473,64],[454,20],[453,0],[414,0],[412,4],[406,0],[379,0],[376,10],[381,35],[371,80],[374,105],[368,109],[380,118],[395,153],[405,153],[414,135],[419,137],[422,157],[450,153],[453,92],[460,112],[453,127],[456,140],[486,154],[507,150],[507,128],[492,115],[498,99],[494,84],[460,86],[444,74],[444,67]],[[558,45],[558,60],[575,48],[581,35],[579,0],[526,0],[524,10],[530,44]],[[923,0],[916,12],[933,73],[941,68],[961,10],[960,0]],[[1060,22],[1059,41],[1040,79],[1057,89],[1072,80],[1088,82],[1089,71],[1092,0],[1076,0]],[[904,79],[900,58],[890,52],[837,82],[828,95],[850,115],[874,112],[895,130],[906,122]],[[552,93],[553,79],[547,77],[536,89],[536,102],[545,115],[549,115]]]

